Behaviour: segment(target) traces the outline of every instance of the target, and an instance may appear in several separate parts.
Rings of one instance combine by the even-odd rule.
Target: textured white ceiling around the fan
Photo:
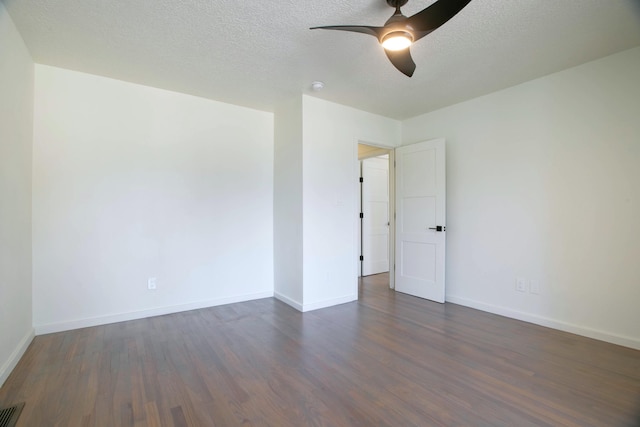
[[[403,119],[640,45],[639,0],[472,0],[412,49],[375,38],[385,0],[3,0],[34,61],[260,110],[314,96]],[[410,0],[412,15],[433,0]]]

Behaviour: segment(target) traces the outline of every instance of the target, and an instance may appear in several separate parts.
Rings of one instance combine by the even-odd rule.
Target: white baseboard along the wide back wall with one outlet
[[[128,320],[144,319],[165,314],[180,313],[182,311],[198,310],[201,308],[215,307],[218,305],[233,304],[237,302],[252,301],[273,297],[273,292],[259,292],[255,294],[237,295],[227,298],[219,298],[210,301],[198,301],[188,304],[179,304],[166,307],[151,308],[148,310],[132,311],[128,313],[112,314],[107,316],[90,317],[86,319],[69,320],[64,322],[46,323],[34,325],[36,335],[51,334],[54,332],[70,331],[73,329],[88,328],[91,326],[107,325],[109,323],[126,322]]]

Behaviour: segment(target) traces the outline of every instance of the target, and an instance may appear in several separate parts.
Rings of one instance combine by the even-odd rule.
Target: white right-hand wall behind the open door
[[[404,121],[447,140],[447,299],[640,348],[639,117],[636,48]]]

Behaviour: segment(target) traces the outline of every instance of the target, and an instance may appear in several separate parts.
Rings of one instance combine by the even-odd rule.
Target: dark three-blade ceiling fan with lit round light
[[[363,33],[374,36],[384,48],[391,63],[400,72],[411,77],[416,64],[411,58],[409,46],[426,36],[442,24],[453,18],[471,0],[438,0],[431,6],[413,16],[406,17],[400,8],[408,0],[387,0],[387,4],[396,9],[393,16],[385,22],[384,27],[366,25],[330,25],[312,27],[311,30],[341,30]]]

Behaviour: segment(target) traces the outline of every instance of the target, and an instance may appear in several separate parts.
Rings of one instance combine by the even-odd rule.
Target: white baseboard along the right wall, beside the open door
[[[548,328],[558,329],[560,331],[570,332],[572,334],[582,335],[584,337],[640,350],[640,340],[637,338],[612,334],[597,329],[574,325],[572,323],[567,323],[560,320],[550,319],[548,317],[538,316],[536,314],[525,313],[506,307],[487,304],[481,301],[457,297],[455,295],[447,295],[447,302],[464,305],[465,307],[471,307],[489,313],[499,314],[500,316],[510,317],[512,319],[522,320],[524,322],[534,323],[536,325],[546,326]]]

